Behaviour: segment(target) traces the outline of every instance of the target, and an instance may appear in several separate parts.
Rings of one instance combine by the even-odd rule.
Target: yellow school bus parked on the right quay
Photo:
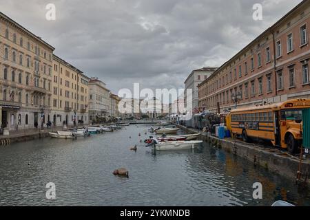
[[[231,110],[231,133],[243,141],[251,137],[270,140],[290,153],[302,143],[302,109],[310,108],[310,99],[287,100],[276,104]]]

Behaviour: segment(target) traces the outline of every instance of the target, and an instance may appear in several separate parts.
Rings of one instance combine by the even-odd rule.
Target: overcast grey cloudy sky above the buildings
[[[55,54],[121,88],[182,88],[220,66],[301,0],[0,0],[0,10],[56,47]],[[45,6],[56,5],[56,21]],[[254,21],[254,3],[263,20]]]

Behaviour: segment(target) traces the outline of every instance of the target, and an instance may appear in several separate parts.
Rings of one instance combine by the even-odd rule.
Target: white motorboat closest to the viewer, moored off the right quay
[[[156,142],[156,151],[174,151],[174,150],[185,150],[194,149],[198,147],[198,144],[202,143],[202,140],[189,140],[189,141],[175,141],[175,142]]]

